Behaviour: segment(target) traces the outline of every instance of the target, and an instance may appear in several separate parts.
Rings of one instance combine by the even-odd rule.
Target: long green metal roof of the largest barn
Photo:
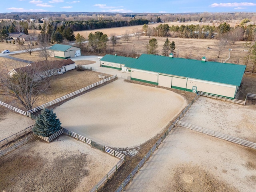
[[[102,58],[103,59],[103,58]],[[122,59],[124,60],[124,58]],[[127,59],[128,60],[128,59]],[[118,61],[118,60],[117,60]],[[115,62],[112,60],[112,62]],[[134,69],[240,86],[245,65],[142,54],[125,66]]]

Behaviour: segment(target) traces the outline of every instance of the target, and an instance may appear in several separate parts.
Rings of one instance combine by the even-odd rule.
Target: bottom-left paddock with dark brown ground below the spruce
[[[68,136],[37,138],[0,159],[0,190],[89,191],[118,161]]]

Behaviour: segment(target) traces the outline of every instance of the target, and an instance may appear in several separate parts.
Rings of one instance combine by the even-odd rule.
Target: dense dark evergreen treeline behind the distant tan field
[[[149,20],[146,19],[132,19],[130,21],[113,21],[113,20],[89,20],[89,21],[54,21],[62,23],[70,27],[73,31],[92,30],[101,28],[123,27],[148,24]]]

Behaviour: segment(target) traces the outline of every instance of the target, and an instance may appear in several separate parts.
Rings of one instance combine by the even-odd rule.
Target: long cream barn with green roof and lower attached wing
[[[139,58],[106,55],[101,66],[129,71],[132,80],[190,92],[202,91],[234,98],[244,75],[245,65],[208,62],[142,54]],[[115,67],[116,66],[116,67]]]

